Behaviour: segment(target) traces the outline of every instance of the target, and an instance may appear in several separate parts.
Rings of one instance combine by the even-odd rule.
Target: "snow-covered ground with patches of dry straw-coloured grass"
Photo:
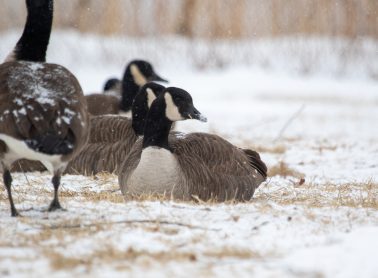
[[[17,33],[0,36],[5,57]],[[178,129],[217,133],[258,150],[270,177],[249,203],[196,204],[125,203],[115,176],[65,176],[60,194],[67,211],[47,213],[50,176],[14,174],[23,217],[9,217],[1,186],[0,277],[376,277],[378,82],[372,72],[378,42],[361,43],[369,62],[347,62],[354,73],[338,75],[343,65],[335,52],[303,76],[290,65],[300,59],[284,55],[292,52],[275,53],[279,42],[266,43],[281,59],[270,62],[271,70],[253,61],[231,63],[234,52],[240,61],[239,50],[249,52],[230,45],[217,48],[229,66],[200,69],[197,62],[209,50],[193,50],[193,62],[185,41],[151,46],[149,40],[78,38],[55,34],[49,61],[72,70],[86,92],[121,77],[127,59],[146,58],[169,85],[188,90],[209,119]],[[332,48],[330,41],[311,43]]]

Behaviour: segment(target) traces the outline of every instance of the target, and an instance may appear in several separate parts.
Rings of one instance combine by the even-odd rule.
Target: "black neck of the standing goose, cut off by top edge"
[[[16,44],[16,60],[45,62],[53,21],[53,0],[27,0],[28,16]]]

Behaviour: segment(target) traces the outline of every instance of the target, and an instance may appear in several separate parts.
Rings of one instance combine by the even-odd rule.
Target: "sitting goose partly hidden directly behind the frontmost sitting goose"
[[[116,173],[136,140],[143,135],[149,107],[164,89],[164,86],[153,82],[144,85],[134,98],[132,120],[119,115],[92,117],[89,142],[69,162],[66,173]]]

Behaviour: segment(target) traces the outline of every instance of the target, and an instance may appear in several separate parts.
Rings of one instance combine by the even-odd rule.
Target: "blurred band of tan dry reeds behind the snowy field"
[[[21,28],[24,0],[0,0],[0,32]],[[56,0],[55,28],[155,37],[292,35],[378,38],[377,0]]]

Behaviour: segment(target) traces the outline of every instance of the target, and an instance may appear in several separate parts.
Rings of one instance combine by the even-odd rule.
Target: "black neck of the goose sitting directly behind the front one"
[[[147,94],[139,93],[136,95],[131,109],[132,127],[137,136],[142,136],[146,118],[148,114]]]

